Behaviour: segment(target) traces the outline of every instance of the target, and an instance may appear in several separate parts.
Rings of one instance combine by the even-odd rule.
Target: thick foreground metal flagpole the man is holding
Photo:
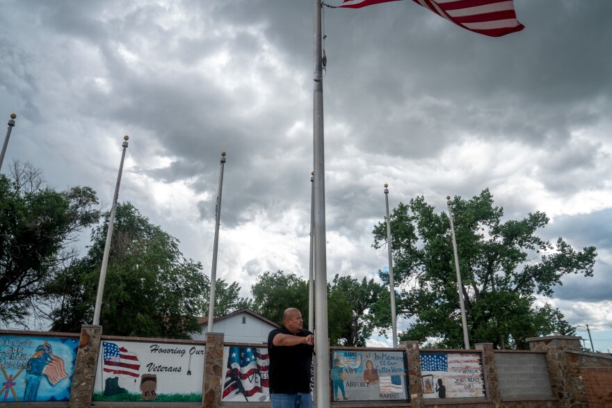
[[[328,343],[327,257],[325,249],[325,154],[323,142],[323,35],[321,0],[314,0],[314,332],[316,407],[330,406],[330,347]]]

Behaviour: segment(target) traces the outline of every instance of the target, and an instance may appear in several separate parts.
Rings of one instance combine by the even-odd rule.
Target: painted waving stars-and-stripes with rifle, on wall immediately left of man
[[[266,393],[270,387],[268,364],[270,357],[266,349],[230,347],[222,399],[241,394],[248,401],[248,397]]]

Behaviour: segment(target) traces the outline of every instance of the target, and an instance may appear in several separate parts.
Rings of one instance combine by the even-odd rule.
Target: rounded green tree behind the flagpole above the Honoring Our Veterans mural
[[[92,321],[108,216],[92,231],[87,255],[57,281],[54,330],[77,331]],[[207,280],[178,244],[131,204],[118,205],[100,313],[106,334],[184,338],[200,330],[195,316],[204,307]]]

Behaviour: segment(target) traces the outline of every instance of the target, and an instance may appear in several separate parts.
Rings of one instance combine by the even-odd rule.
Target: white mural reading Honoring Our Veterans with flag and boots
[[[106,341],[94,401],[202,401],[204,345]]]

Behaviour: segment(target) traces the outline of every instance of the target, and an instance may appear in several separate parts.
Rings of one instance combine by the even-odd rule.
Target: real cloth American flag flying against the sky
[[[395,0],[344,0],[344,8],[361,8]],[[516,17],[512,0],[412,0],[474,33],[501,37],[525,26]]]

